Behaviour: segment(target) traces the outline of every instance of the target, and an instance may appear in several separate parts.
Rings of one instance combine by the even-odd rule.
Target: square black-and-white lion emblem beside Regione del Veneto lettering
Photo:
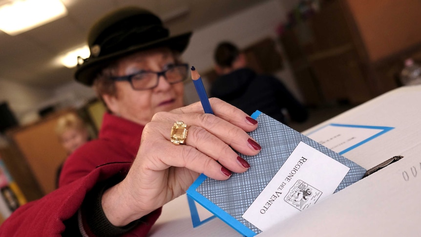
[[[302,211],[310,205],[315,204],[321,194],[322,192],[315,187],[312,187],[302,180],[297,180],[285,196],[284,200],[296,209]]]

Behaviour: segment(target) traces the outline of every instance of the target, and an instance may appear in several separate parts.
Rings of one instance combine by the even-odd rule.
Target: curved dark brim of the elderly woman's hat
[[[111,63],[113,60],[118,59],[119,57],[138,51],[166,46],[172,50],[182,53],[189,44],[190,36],[191,32],[188,32],[150,43],[135,45],[125,50],[108,54],[104,57],[89,58],[86,62],[84,62],[84,64],[77,68],[75,72],[76,81],[87,86],[92,86],[93,80],[95,79],[96,75],[104,68],[104,66]]]

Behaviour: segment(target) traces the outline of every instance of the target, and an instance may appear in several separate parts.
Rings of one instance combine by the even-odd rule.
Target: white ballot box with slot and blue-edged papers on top
[[[421,86],[400,87],[302,132],[370,170],[402,156],[257,236],[419,236]],[[241,236],[182,195],[150,236]]]

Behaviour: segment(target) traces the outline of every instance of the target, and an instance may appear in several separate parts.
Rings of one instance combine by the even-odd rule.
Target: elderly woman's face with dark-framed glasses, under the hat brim
[[[141,70],[160,72],[174,64],[169,49],[152,49],[119,60],[113,76],[126,76]],[[163,76],[159,77],[158,86],[149,90],[134,90],[128,81],[116,81],[115,86],[115,96],[104,95],[108,108],[138,124],[147,124],[157,112],[183,106],[183,83],[170,85]]]

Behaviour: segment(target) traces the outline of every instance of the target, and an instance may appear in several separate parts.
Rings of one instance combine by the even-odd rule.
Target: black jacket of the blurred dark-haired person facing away
[[[273,76],[258,75],[250,68],[240,68],[218,77],[211,86],[210,95],[248,114],[260,110],[282,123],[288,121],[283,110],[296,122],[303,122],[308,116],[306,108],[281,81]]]

